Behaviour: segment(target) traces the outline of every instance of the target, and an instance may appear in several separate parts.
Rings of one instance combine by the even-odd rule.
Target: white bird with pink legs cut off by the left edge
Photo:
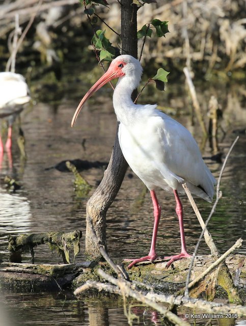
[[[14,72],[0,72],[0,118],[9,117],[8,139],[5,144],[7,150],[12,146],[12,124],[16,115],[23,110],[23,104],[28,103],[31,97],[25,78]],[[0,137],[0,152],[4,145]]]

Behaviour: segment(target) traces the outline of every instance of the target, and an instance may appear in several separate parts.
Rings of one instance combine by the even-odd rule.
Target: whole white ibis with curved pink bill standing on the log
[[[196,141],[184,126],[156,110],[156,104],[133,103],[131,93],[138,87],[142,71],[140,62],[131,56],[123,55],[114,59],[108,70],[80,101],[71,125],[74,125],[81,107],[94,92],[110,80],[119,78],[113,104],[120,122],[120,147],[132,171],[148,187],[154,207],[150,252],[147,256],[134,259],[128,268],[141,261],[157,258],[155,247],[161,211],[155,193],[157,187],[173,192],[176,200],[181,253],[165,257],[170,258],[167,263],[169,267],[173,261],[190,256],[186,250],[183,208],[179,198],[179,193],[184,193],[182,183],[185,182],[193,194],[211,202],[215,179],[205,165]]]

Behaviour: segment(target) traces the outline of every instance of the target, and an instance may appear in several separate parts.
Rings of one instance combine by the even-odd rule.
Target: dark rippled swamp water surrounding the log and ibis
[[[53,99],[39,100],[33,107],[26,108],[21,113],[22,129],[25,134],[25,151],[27,159],[23,160],[16,142],[13,144],[11,168],[7,154],[2,162],[1,175],[10,175],[21,182],[21,188],[12,194],[6,191],[4,185],[0,188],[0,254],[8,260],[7,236],[21,233],[40,233],[45,231],[73,231],[81,229],[81,253],[75,261],[84,260],[85,210],[88,197],[93,193],[103,176],[103,169],[90,169],[81,174],[93,186],[87,198],[76,198],[73,191],[73,176],[71,173],[60,172],[56,169],[47,169],[66,159],[87,159],[90,161],[108,161],[114,143],[116,117],[113,112],[110,98],[110,89],[102,89],[94,99],[87,104],[80,114],[76,126],[70,128],[71,118],[78,103],[78,84],[68,84],[63,81],[63,92],[54,94]],[[88,86],[87,86],[88,87]],[[178,86],[182,89],[182,86]],[[85,85],[81,89],[86,89]],[[162,98],[151,99],[164,103],[175,114],[198,140],[202,147],[203,156],[214,176],[217,178],[221,164],[212,161],[213,154],[209,142],[203,146],[200,128],[192,124],[192,118],[183,106],[187,98],[176,94],[176,88],[167,90]],[[74,91],[73,91],[74,90]],[[209,231],[222,252],[229,249],[239,238],[245,239],[245,195],[246,195],[246,105],[245,96],[237,87],[225,90],[218,88],[205,91],[199,95],[202,103],[207,103],[209,95],[216,92],[223,110],[218,132],[218,147],[223,153],[223,159],[236,137],[235,130],[239,130],[239,141],[235,146],[226,167],[221,189],[223,198],[216,208]],[[47,93],[48,94],[48,93]],[[76,99],[74,99],[76,97]],[[94,105],[95,99],[97,103]],[[98,109],[100,108],[100,110]],[[203,107],[206,110],[206,107]],[[205,114],[205,113],[204,113]],[[18,129],[14,139],[18,136]],[[142,207],[139,207],[139,196],[144,190],[142,182],[135,176],[126,177],[120,192],[108,210],[107,214],[107,241],[108,250],[113,258],[123,259],[138,257],[148,253],[152,232],[152,206],[147,193]],[[175,215],[174,198],[165,191],[157,193],[162,206],[162,220],[160,222],[157,251],[159,254],[172,254],[180,251],[179,227]],[[211,204],[197,200],[202,216],[206,219]],[[184,224],[187,248],[190,253],[194,250],[200,234],[200,226],[188,200],[183,198]],[[122,250],[123,248],[123,250]],[[36,249],[36,262],[61,262],[56,254],[49,252],[45,246]],[[208,253],[206,244],[202,243],[199,254]],[[245,254],[245,246],[240,253]],[[24,253],[23,262],[30,262],[30,253]],[[92,293],[86,294],[81,301],[77,301],[71,293],[3,293],[0,299],[7,315],[13,317],[11,325],[127,325],[124,316],[121,298]],[[161,325],[160,316],[138,307],[132,302],[132,311],[140,317],[140,324]],[[0,307],[1,308],[1,307]],[[183,316],[185,312],[180,312]],[[119,322],[120,321],[120,322]],[[190,320],[194,322],[194,320]],[[213,324],[225,324],[223,321]],[[137,324],[136,320],[133,324]],[[205,324],[204,320],[197,320],[197,324]],[[234,325],[230,320],[228,325]],[[242,325],[242,323],[240,323]],[[2,324],[0,323],[2,326]],[[3,326],[7,323],[3,323]]]

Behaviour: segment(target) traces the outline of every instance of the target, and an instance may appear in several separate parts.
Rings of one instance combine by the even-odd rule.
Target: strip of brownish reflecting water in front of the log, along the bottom
[[[8,293],[5,294],[6,317],[13,319],[11,326],[128,326],[127,317],[124,315],[123,299],[116,295],[96,294],[89,292],[77,300],[70,292],[62,293]],[[168,320],[156,311],[146,308],[134,300],[126,300],[128,317],[132,324],[145,326],[171,326]],[[209,316],[197,311],[182,308],[178,316],[190,324],[204,326]],[[189,317],[187,318],[188,315]],[[200,316],[199,316],[200,315]],[[245,326],[246,320],[234,318],[211,319],[211,325],[216,326]],[[8,324],[1,324],[7,326]],[[9,326],[9,325],[8,325]]]

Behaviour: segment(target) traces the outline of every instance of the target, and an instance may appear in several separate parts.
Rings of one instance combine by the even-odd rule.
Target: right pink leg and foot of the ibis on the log
[[[185,244],[185,238],[184,238],[183,206],[182,206],[182,203],[179,198],[177,190],[174,189],[173,192],[174,192],[174,196],[175,196],[175,200],[176,200],[176,213],[177,213],[178,219],[179,219],[179,229],[180,229],[180,238],[181,238],[181,253],[178,255],[165,257],[164,259],[171,258],[170,261],[167,263],[167,267],[169,267],[172,264],[172,262],[174,262],[175,260],[190,257],[190,255],[186,251],[186,244]]]

